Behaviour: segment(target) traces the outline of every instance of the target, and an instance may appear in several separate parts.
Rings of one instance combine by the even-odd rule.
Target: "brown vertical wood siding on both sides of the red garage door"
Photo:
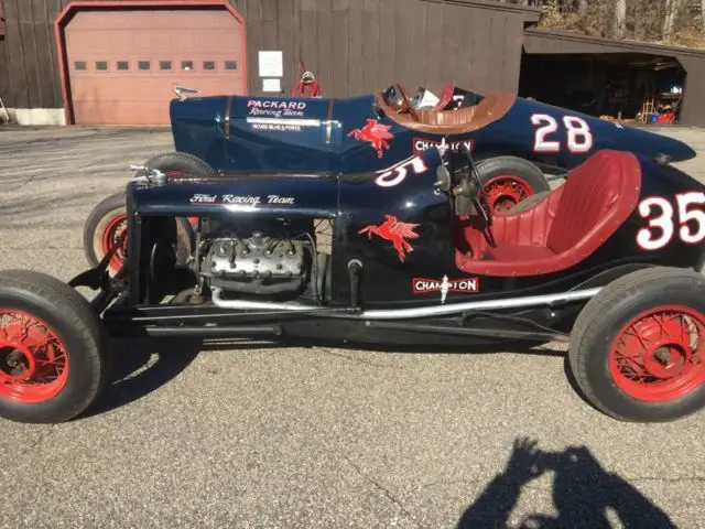
[[[0,0],[7,36],[2,98],[19,108],[63,106],[53,23],[70,0]],[[261,94],[258,52],[281,50],[282,88],[299,61],[326,96],[369,93],[392,83],[409,91],[456,83],[516,91],[525,21],[535,10],[480,0],[228,0],[246,20],[248,85]]]

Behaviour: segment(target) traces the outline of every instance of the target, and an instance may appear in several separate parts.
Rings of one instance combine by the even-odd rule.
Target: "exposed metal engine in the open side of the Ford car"
[[[315,255],[306,228],[283,220],[218,227],[199,242],[199,276],[208,287],[229,292],[297,293],[306,284]]]

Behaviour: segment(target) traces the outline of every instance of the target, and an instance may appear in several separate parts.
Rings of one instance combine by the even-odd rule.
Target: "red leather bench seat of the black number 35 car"
[[[603,150],[575,168],[545,199],[517,215],[492,217],[497,247],[470,225],[456,252],[467,273],[518,277],[570,268],[596,251],[631,215],[641,166],[629,152]],[[463,247],[470,255],[463,251]],[[469,247],[469,248],[468,248]]]

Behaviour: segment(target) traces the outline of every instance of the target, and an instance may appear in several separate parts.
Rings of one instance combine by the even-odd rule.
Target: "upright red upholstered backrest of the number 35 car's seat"
[[[563,184],[546,247],[562,253],[590,231],[610,223],[619,209],[619,196],[633,195],[640,182],[639,162],[632,154],[618,151],[595,154]]]

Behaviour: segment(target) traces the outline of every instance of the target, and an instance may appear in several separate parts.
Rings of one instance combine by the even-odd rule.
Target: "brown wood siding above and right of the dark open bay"
[[[701,50],[662,46],[631,41],[610,41],[576,34],[527,30],[524,50],[536,54],[565,53],[643,53],[674,57],[685,69],[681,125],[705,127],[705,52]]]

